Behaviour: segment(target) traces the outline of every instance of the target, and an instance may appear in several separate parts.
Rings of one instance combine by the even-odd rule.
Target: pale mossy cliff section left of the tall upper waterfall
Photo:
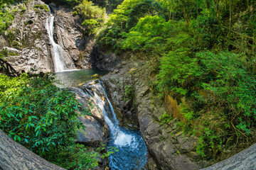
[[[43,5],[46,4],[35,0],[29,1],[27,5],[11,7],[16,8],[17,12],[9,30],[6,31],[6,42],[12,47],[9,51],[11,54],[6,59],[18,72],[22,69],[26,72],[30,69],[50,72],[53,69],[45,28],[46,18],[50,13],[45,8],[36,7]]]

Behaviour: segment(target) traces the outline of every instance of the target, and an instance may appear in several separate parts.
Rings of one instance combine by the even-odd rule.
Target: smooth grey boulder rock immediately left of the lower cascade
[[[98,81],[98,80],[96,80]],[[89,81],[83,84],[82,86],[86,86],[90,88],[95,81]],[[109,128],[105,123],[104,115],[100,108],[95,106],[95,103],[92,101],[92,98],[86,93],[85,89],[80,87],[70,87],[68,88],[72,91],[78,102],[82,104],[82,107],[85,109],[90,109],[90,115],[82,115],[80,116],[80,120],[83,125],[85,125],[85,130],[82,128],[78,130],[78,135],[76,137],[75,142],[81,143],[85,146],[92,147],[95,152],[98,152],[97,148],[103,147],[102,145],[107,145],[107,137],[109,136]],[[107,152],[107,147],[105,147],[105,152]],[[99,153],[102,156],[102,153]],[[102,159],[97,157],[98,166],[94,167],[95,170],[105,169],[107,167],[108,159]]]

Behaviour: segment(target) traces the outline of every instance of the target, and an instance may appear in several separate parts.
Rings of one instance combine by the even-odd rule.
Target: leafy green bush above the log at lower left
[[[37,154],[73,142],[82,123],[70,91],[59,89],[49,77],[0,74],[0,80],[0,128],[6,134]]]

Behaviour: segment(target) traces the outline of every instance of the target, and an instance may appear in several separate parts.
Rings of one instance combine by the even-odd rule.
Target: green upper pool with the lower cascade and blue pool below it
[[[105,71],[97,69],[83,69],[70,72],[55,73],[55,79],[60,81],[60,87],[77,86],[92,79],[93,74],[104,75]],[[101,83],[83,84],[81,87],[92,98],[98,108],[102,110],[105,122],[110,128],[107,148],[116,147],[118,152],[110,154],[109,167],[112,170],[144,169],[147,162],[147,149],[142,135],[138,130],[131,130],[119,126],[114,108],[107,98],[107,93]]]

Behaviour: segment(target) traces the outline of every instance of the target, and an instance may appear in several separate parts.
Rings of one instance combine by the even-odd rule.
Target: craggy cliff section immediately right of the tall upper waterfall
[[[73,16],[68,8],[50,4],[55,16],[55,42],[67,52],[78,69],[90,68],[90,53],[94,45],[93,38],[82,35],[82,20]]]

